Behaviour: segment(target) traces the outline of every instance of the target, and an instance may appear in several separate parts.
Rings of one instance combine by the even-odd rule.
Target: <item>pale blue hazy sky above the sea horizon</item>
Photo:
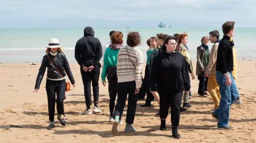
[[[0,0],[0,28],[256,27],[256,0]]]

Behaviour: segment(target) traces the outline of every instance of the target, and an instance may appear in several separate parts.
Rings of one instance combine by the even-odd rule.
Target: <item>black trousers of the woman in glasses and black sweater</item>
[[[180,123],[180,106],[183,95],[183,89],[179,92],[160,92],[160,118],[165,119],[168,116],[169,108],[171,108],[172,126],[178,126]]]

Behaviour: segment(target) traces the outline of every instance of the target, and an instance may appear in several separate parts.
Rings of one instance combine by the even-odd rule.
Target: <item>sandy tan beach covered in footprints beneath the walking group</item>
[[[45,90],[46,74],[39,92],[34,85],[40,63],[0,64],[0,142],[1,143],[255,143],[256,142],[256,61],[238,61],[238,79],[235,80],[243,104],[230,108],[229,125],[235,130],[217,130],[217,122],[208,111],[214,108],[211,97],[198,97],[198,80],[191,80],[192,108],[180,116],[181,139],[171,136],[170,116],[167,131],[160,131],[160,119],[154,117],[159,106],[141,108],[144,100],[138,101],[134,127],[136,133],[124,133],[127,106],[123,114],[123,125],[119,134],[111,133],[109,118],[108,86],[101,84],[100,102],[102,112],[91,116],[81,115],[86,108],[84,89],[78,64],[70,64],[76,88],[66,92],[64,100],[67,126],[62,127],[55,116],[55,128],[47,130],[48,106]],[[196,62],[193,62],[196,67]],[[195,70],[195,69],[194,69]],[[69,81],[69,80],[68,80]],[[93,99],[93,97],[92,97]],[[126,102],[127,105],[127,102]],[[55,112],[56,113],[56,112]],[[19,125],[10,127],[10,125]]]

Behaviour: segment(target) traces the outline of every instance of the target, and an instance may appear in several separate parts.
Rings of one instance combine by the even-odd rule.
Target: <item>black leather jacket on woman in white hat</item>
[[[47,55],[50,57],[50,59],[52,60],[54,65],[57,67],[57,69],[60,71],[62,76],[65,77],[66,73],[67,73],[71,84],[75,84],[75,80],[74,80],[74,77],[70,70],[68,60],[67,60],[65,54],[58,52],[56,56],[52,56],[50,53],[48,53]],[[39,69],[39,72],[38,72],[38,75],[36,78],[35,89],[39,89],[42,79],[44,77],[44,72],[46,70],[46,67],[47,67],[47,77],[48,78],[51,78],[51,79],[62,78],[60,73],[57,71],[57,69],[54,67],[52,62],[47,57],[47,55],[44,55],[44,57],[43,57],[41,67]]]

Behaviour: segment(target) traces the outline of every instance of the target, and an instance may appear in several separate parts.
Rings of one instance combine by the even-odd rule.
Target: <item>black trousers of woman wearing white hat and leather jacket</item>
[[[65,100],[65,91],[66,91],[66,82],[65,80],[49,80],[46,79],[46,92],[48,100],[48,112],[49,120],[54,121],[54,112],[55,112],[55,102],[57,104],[57,113],[59,115],[64,115],[64,104]],[[56,98],[57,95],[57,98]],[[65,115],[64,115],[65,116]]]

